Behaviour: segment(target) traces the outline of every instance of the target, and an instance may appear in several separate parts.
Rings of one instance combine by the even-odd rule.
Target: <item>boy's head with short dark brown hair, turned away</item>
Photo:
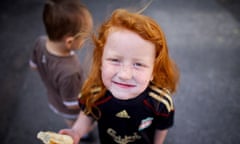
[[[83,36],[93,26],[91,13],[79,0],[47,0],[43,22],[51,41],[61,41],[68,36]]]

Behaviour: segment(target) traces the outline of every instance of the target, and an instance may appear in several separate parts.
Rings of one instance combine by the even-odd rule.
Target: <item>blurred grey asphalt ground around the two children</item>
[[[82,0],[95,26],[118,7],[144,0]],[[0,143],[41,144],[40,130],[65,128],[47,106],[46,91],[28,58],[44,34],[43,0],[3,0],[0,6]],[[144,12],[165,31],[181,80],[174,95],[175,125],[166,144],[240,143],[240,2],[154,0]],[[88,45],[90,47],[90,45]],[[80,51],[81,58],[85,50]],[[97,144],[97,132],[94,131]],[[84,144],[84,143],[83,143]],[[86,143],[87,144],[87,143]]]

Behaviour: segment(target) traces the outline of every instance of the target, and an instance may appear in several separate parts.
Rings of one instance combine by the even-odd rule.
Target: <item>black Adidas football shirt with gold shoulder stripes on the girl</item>
[[[107,91],[96,106],[101,112],[98,131],[102,144],[152,144],[155,130],[173,125],[171,96],[153,85],[129,100],[116,99]]]

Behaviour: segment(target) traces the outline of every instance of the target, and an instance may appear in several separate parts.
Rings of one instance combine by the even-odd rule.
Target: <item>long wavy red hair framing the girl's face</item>
[[[98,36],[93,37],[95,43],[93,62],[88,78],[83,84],[80,97],[81,102],[86,106],[85,112],[87,114],[93,114],[95,102],[106,92],[101,79],[101,60],[104,45],[113,27],[133,31],[143,39],[155,44],[156,58],[152,82],[156,86],[167,88],[170,92],[176,91],[179,73],[175,63],[168,54],[167,42],[161,27],[150,17],[118,9],[102,24]],[[94,89],[99,88],[101,88],[99,92],[94,92]]]

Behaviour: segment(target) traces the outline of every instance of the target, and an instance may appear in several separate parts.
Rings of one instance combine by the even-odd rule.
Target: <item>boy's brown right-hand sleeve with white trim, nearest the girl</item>
[[[61,81],[59,90],[64,105],[67,107],[79,105],[78,94],[80,93],[81,86],[81,76],[79,73],[74,73]]]

